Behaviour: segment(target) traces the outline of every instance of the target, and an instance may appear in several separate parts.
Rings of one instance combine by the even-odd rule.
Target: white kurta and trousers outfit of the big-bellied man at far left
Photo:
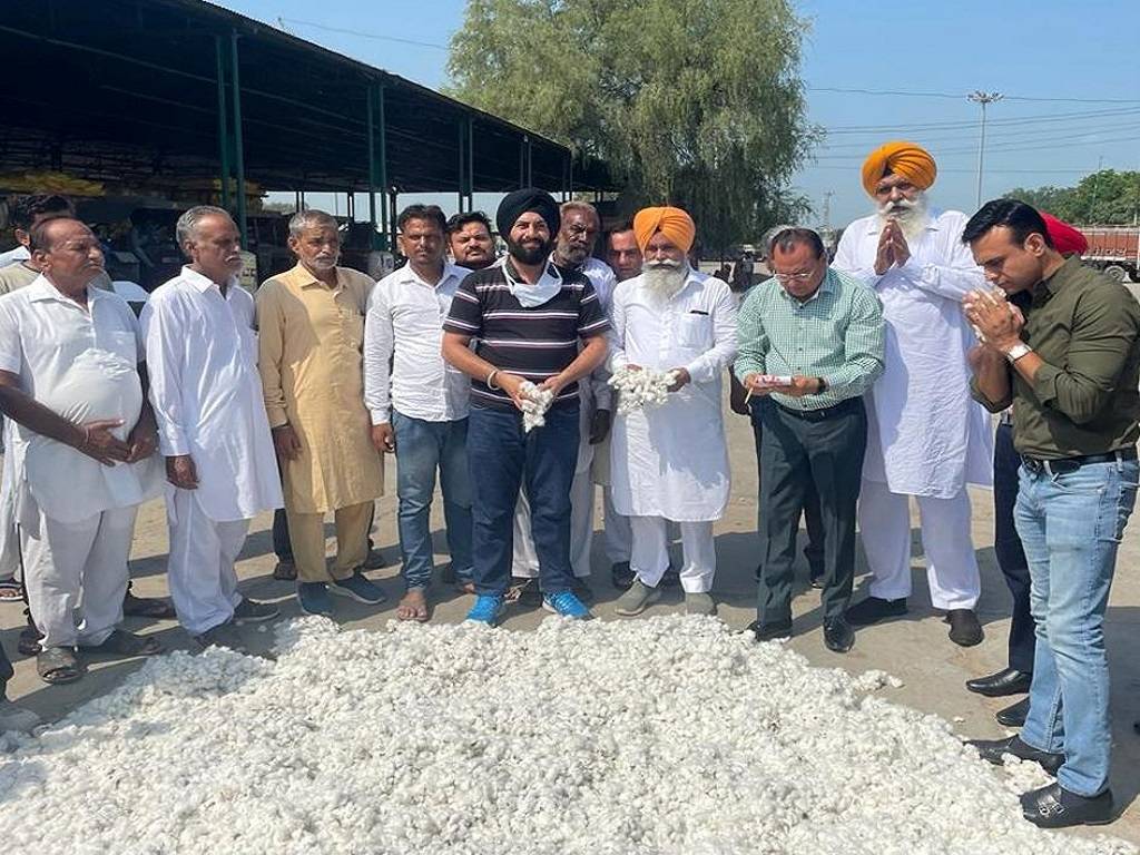
[[[0,370],[72,422],[119,418],[112,432],[125,439],[142,409],[140,361],[138,321],[115,294],[89,287],[83,307],[40,276],[0,299]],[[24,585],[41,643],[100,644],[122,620],[135,514],[160,489],[158,459],[104,466],[23,425],[11,454]]]

